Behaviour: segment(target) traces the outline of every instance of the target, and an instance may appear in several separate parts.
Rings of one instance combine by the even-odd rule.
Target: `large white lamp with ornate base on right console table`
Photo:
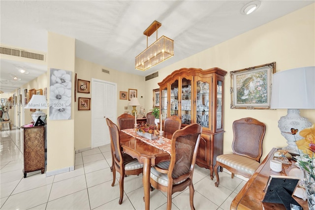
[[[315,109],[315,67],[284,70],[273,74],[271,108],[287,109],[287,115],[278,121],[282,136],[287,140],[283,149],[298,154],[296,140],[303,139],[299,132],[312,123],[300,116],[299,109]],[[296,135],[291,128],[298,129]]]

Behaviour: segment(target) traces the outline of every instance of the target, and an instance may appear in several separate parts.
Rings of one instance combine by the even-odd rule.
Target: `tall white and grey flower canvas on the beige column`
[[[71,71],[50,69],[49,118],[71,119]]]

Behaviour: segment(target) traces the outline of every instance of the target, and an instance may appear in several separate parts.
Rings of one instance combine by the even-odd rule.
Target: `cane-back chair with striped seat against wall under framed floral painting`
[[[217,177],[216,187],[220,179],[218,167],[221,166],[234,174],[250,178],[260,165],[262,155],[262,140],[265,136],[266,125],[254,118],[247,117],[235,120],[232,125],[233,141],[232,154],[217,156],[214,171]]]

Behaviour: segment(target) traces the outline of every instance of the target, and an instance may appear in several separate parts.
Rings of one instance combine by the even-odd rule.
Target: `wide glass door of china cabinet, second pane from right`
[[[209,128],[209,104],[211,100],[209,82],[197,81],[196,85],[196,123],[202,127]]]

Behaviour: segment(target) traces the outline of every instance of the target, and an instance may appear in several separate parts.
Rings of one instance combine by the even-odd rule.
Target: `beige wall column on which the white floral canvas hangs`
[[[75,39],[48,33],[48,75],[50,69],[72,71],[74,90]],[[47,98],[49,100],[49,77]],[[72,92],[73,93],[73,92]],[[47,110],[49,112],[49,109]],[[74,170],[74,97],[71,99],[70,120],[50,120],[47,117],[47,172],[46,175],[60,174]]]

